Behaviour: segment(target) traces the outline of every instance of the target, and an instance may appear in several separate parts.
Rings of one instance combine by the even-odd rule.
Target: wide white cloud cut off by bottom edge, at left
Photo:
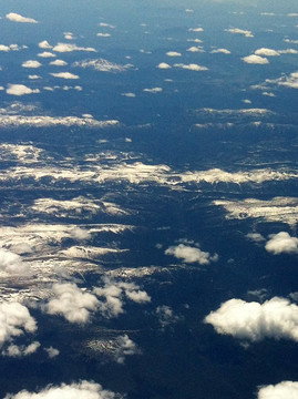
[[[4,399],[120,399],[120,395],[104,390],[101,385],[89,381],[49,386],[39,392],[22,390],[19,393],[7,393]]]

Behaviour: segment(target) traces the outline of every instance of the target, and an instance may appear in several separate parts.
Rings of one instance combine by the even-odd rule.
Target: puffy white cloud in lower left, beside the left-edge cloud
[[[52,298],[43,307],[50,315],[63,316],[70,323],[85,324],[90,313],[99,306],[97,298],[90,293],[84,293],[75,284],[54,284]]]

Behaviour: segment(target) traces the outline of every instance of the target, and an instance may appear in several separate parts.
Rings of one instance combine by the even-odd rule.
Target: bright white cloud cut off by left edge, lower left
[[[0,304],[0,346],[25,332],[35,332],[37,323],[28,308],[19,303]]]

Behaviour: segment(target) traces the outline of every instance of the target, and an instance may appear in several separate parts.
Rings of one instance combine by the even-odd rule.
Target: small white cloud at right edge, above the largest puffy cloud
[[[298,254],[298,238],[291,237],[287,232],[271,234],[269,241],[266,243],[265,248],[267,252],[279,254]]]

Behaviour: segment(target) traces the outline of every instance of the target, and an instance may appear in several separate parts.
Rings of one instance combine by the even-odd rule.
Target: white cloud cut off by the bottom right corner
[[[295,399],[298,398],[298,382],[282,381],[277,385],[261,387],[258,399]]]

